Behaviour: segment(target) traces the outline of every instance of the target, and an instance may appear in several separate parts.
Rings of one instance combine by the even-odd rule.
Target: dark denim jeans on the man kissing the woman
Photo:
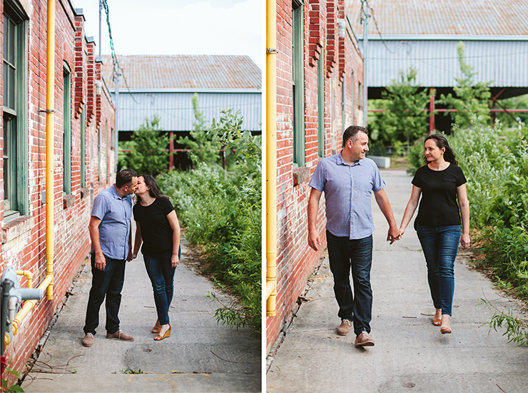
[[[99,325],[99,309],[106,296],[106,332],[115,333],[119,330],[119,306],[121,305],[121,290],[125,281],[126,260],[115,260],[105,255],[106,266],[98,270],[95,266],[96,255],[91,254],[91,290],[86,307],[86,322],[84,333],[96,334]]]

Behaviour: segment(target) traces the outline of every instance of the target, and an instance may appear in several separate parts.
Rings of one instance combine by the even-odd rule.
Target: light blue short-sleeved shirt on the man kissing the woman
[[[121,198],[112,185],[98,193],[93,200],[91,215],[101,220],[99,242],[103,254],[113,259],[125,260],[128,256],[128,234],[131,230],[131,195]]]

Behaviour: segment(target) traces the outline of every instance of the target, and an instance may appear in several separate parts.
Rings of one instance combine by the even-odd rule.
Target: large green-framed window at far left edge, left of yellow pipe
[[[4,2],[4,220],[29,213],[27,19]]]

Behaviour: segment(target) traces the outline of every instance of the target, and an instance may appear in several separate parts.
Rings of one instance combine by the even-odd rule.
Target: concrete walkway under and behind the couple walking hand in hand
[[[385,188],[398,225],[410,197],[411,178],[384,170]],[[389,245],[387,223],[373,202],[376,230],[372,261],[372,337],[375,347],[354,347],[355,335],[336,334],[340,320],[328,260],[313,277],[297,317],[266,375],[273,392],[528,392],[528,348],[509,344],[488,326],[493,312],[477,305],[487,297],[497,307],[517,304],[470,270],[455,263],[452,334],[432,325],[434,308],[427,270],[412,225]]]

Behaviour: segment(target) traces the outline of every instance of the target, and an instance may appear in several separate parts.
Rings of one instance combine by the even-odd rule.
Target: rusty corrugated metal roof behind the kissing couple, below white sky
[[[256,89],[262,71],[249,56],[236,55],[131,55],[118,56],[131,89]],[[103,78],[110,90],[113,63],[103,56]],[[121,78],[120,90],[126,88]]]

